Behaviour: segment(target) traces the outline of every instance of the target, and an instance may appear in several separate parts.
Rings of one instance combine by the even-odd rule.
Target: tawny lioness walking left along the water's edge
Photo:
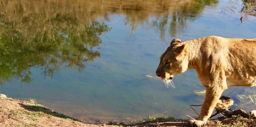
[[[221,93],[230,86],[256,86],[256,38],[209,36],[181,42],[174,39],[160,57],[156,75],[166,83],[195,69],[206,88],[201,113],[189,125],[201,126],[211,116]]]

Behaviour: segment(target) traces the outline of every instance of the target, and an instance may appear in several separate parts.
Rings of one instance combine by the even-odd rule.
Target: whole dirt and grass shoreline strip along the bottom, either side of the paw
[[[79,119],[57,113],[37,104],[35,99],[29,101],[7,98],[0,94],[0,127],[187,127],[184,119],[173,117],[150,117],[135,123],[103,124],[84,123]],[[256,127],[255,119],[218,118],[209,120],[203,127]]]

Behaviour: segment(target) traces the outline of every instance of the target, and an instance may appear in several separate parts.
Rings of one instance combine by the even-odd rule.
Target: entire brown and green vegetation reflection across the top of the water
[[[42,67],[52,77],[61,65],[81,70],[84,62],[100,56],[104,23],[109,15],[122,14],[134,33],[138,25],[155,29],[164,40],[175,36],[207,5],[217,0],[1,0],[0,84],[13,78],[32,81],[31,68]],[[154,17],[152,20],[151,17]],[[102,19],[103,22],[98,19]]]

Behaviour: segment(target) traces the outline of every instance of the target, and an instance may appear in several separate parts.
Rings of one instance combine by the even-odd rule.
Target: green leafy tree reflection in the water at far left
[[[81,70],[84,62],[100,56],[93,47],[101,43],[99,35],[110,30],[105,23],[84,22],[47,6],[38,13],[35,3],[1,3],[0,84],[13,78],[29,83],[31,67],[43,66],[42,74],[50,77],[63,63]]]

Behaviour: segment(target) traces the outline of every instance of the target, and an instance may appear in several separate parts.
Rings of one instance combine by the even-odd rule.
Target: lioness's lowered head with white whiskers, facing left
[[[172,84],[174,75],[183,73],[188,68],[188,45],[182,43],[180,39],[173,39],[170,46],[160,57],[156,75],[159,76],[168,87]]]

